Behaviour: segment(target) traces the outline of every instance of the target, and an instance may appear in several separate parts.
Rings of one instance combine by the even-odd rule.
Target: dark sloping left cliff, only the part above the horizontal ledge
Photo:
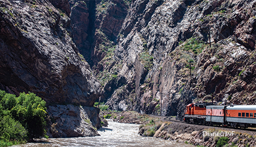
[[[31,3],[1,1],[1,89],[93,106],[99,83],[63,28],[69,18],[46,1]]]

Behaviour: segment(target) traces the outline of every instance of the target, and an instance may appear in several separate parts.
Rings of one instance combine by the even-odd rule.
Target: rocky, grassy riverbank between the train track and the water
[[[153,116],[137,112],[103,112],[113,121],[141,124],[141,136],[151,136],[178,143],[198,146],[255,146],[256,130],[186,124],[171,117]]]

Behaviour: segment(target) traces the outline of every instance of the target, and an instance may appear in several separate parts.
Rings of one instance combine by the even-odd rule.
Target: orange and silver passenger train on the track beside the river
[[[184,121],[193,124],[230,127],[256,127],[256,105],[216,106],[212,103],[190,103]]]

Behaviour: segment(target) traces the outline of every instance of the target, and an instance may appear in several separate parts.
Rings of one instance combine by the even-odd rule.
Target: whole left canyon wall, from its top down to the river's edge
[[[99,110],[89,107],[100,96],[100,83],[70,37],[67,14],[44,0],[0,1],[0,89],[42,97],[50,136],[95,136]]]

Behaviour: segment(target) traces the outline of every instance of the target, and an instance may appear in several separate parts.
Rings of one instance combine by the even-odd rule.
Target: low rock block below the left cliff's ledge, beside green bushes
[[[49,106],[47,135],[50,137],[99,136],[99,108],[74,105]]]

